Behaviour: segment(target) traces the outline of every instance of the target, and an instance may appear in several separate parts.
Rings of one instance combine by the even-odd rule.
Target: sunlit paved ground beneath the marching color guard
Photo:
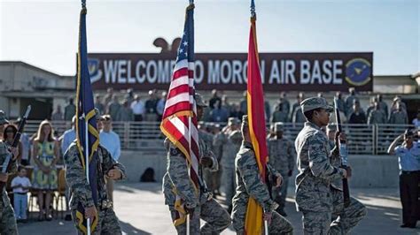
[[[401,203],[397,188],[352,188],[352,194],[368,208],[368,216],[352,234],[420,234],[420,226],[414,230],[400,228]],[[116,185],[114,199],[115,211],[125,234],[175,234],[167,207],[163,205],[159,184]],[[287,218],[295,228],[295,234],[302,234],[300,214],[294,209],[292,197],[287,199],[286,211],[289,214]],[[34,219],[27,224],[19,224],[19,233],[75,234],[75,231],[73,224],[63,220],[39,223]],[[234,232],[228,229],[223,234]]]

